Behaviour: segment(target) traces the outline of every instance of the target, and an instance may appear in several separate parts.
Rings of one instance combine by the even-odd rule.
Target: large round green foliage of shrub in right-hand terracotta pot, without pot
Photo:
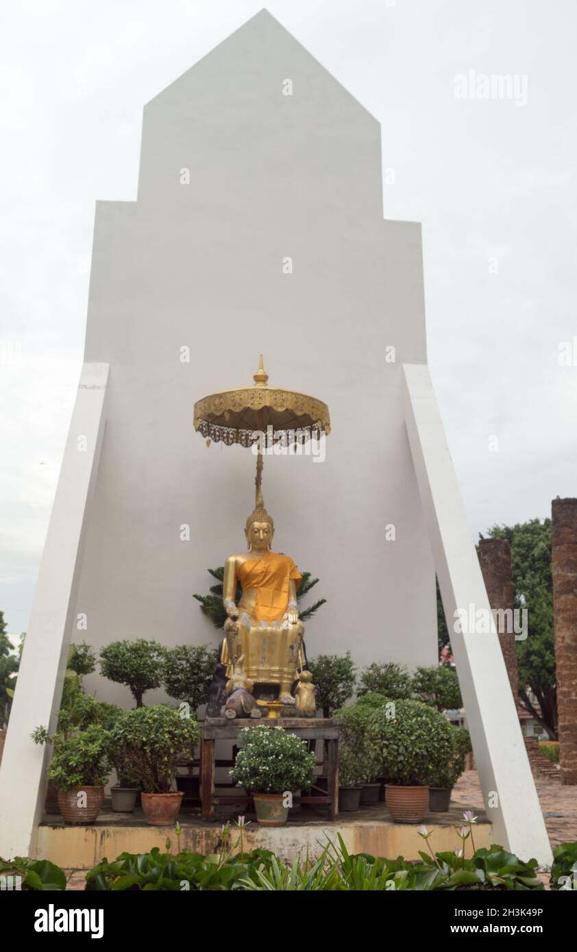
[[[452,755],[451,727],[443,714],[420,701],[395,701],[374,710],[368,739],[389,783],[426,786]]]

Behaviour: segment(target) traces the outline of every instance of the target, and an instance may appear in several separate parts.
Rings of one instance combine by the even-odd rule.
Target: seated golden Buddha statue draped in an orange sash
[[[249,693],[256,694],[259,687],[276,686],[278,702],[293,706],[292,684],[305,662],[305,627],[296,603],[302,576],[288,555],[270,549],[274,523],[263,501],[261,472],[259,456],[256,503],[245,528],[249,550],[229,556],[225,564],[223,602],[229,617],[221,661],[230,683],[244,679]],[[239,582],[242,597],[236,605]]]

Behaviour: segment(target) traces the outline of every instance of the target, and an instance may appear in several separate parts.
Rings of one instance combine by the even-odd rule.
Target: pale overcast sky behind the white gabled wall
[[[3,5],[0,609],[11,632],[28,624],[78,383],[94,202],[136,197],[144,104],[261,6]],[[472,532],[549,515],[554,496],[577,495],[577,4],[268,9],[381,122],[385,216],[423,223],[429,363]],[[458,98],[469,70],[515,76],[527,96]],[[574,361],[560,365],[574,337]]]

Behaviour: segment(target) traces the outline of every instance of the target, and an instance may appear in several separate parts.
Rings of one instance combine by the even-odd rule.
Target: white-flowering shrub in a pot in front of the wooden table
[[[282,826],[289,816],[286,795],[310,789],[314,754],[295,734],[267,724],[241,730],[239,747],[230,779],[252,794],[259,823]]]

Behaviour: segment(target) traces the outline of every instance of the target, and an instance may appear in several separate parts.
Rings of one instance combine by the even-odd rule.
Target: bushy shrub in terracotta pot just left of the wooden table
[[[176,764],[192,758],[198,742],[198,724],[192,714],[168,704],[134,707],[113,725],[109,749],[121,774],[142,786],[142,808],[153,826],[173,823],[180,810],[182,791],[171,790]]]

